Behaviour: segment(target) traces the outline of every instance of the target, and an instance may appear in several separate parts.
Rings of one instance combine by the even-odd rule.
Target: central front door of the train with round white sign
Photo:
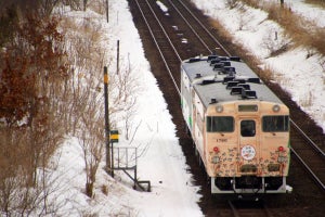
[[[253,175],[257,173],[259,159],[258,119],[255,117],[240,117],[238,122],[238,151],[240,164],[238,173]]]

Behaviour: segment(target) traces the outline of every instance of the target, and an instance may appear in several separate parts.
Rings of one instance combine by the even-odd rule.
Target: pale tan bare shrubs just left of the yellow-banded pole
[[[98,43],[102,26],[84,17],[81,26],[73,23],[67,36],[69,41],[69,61],[76,64],[73,68],[74,79],[67,81],[68,114],[67,130],[79,138],[83,152],[86,168],[86,193],[93,196],[93,187],[99,165],[104,155],[104,108],[102,87],[102,68],[106,51]],[[72,33],[76,30],[76,33]],[[70,34],[70,35],[69,35]]]

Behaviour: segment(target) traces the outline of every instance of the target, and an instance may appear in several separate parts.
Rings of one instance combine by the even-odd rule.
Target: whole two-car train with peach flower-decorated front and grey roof
[[[181,105],[211,193],[285,193],[289,110],[239,58],[181,64]]]

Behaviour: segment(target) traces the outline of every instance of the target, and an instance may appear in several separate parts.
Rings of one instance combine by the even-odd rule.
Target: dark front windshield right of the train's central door
[[[262,118],[262,128],[264,132],[288,131],[289,116],[287,115],[264,116]]]

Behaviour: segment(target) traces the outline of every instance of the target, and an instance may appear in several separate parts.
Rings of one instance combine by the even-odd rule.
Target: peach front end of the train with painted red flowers
[[[206,170],[211,193],[285,193],[289,111],[266,101],[210,104],[205,114]]]

